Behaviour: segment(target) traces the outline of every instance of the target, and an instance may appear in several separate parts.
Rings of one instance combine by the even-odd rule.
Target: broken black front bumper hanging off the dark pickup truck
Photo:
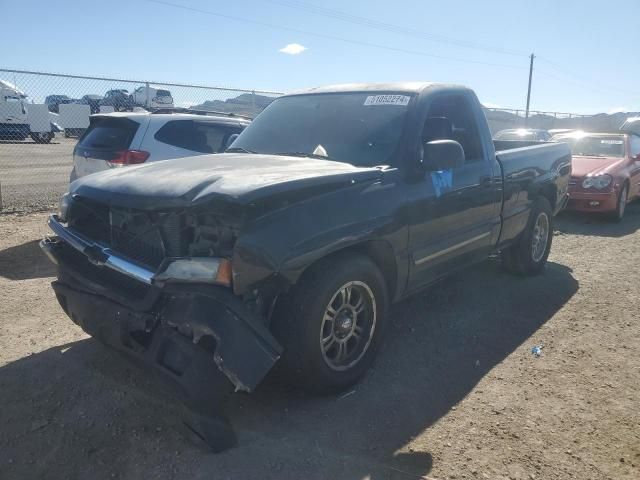
[[[132,295],[108,286],[130,278],[111,278],[120,273],[68,243],[41,247],[59,266],[52,286],[74,323],[168,386],[185,407],[189,431],[212,451],[234,446],[225,401],[234,389],[253,391],[281,353],[260,319],[223,287],[142,284]]]

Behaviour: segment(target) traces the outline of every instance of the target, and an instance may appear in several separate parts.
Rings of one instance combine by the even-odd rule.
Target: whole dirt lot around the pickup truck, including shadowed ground
[[[240,446],[219,455],[65,317],[44,221],[0,216],[2,479],[640,478],[638,204],[621,225],[560,218],[543,276],[492,260],[395,306],[349,395],[236,396]]]

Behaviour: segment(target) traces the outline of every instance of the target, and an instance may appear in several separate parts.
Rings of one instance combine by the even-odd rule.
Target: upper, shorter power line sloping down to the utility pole
[[[503,47],[495,47],[489,45],[483,45],[477,42],[470,42],[467,40],[460,40],[456,38],[446,37],[444,35],[437,35],[434,33],[427,33],[422,30],[417,30],[413,28],[404,27],[397,24],[381,22],[378,20],[374,20],[372,18],[362,17],[360,15],[353,15],[341,10],[335,10],[327,7],[321,7],[319,5],[314,5],[308,2],[300,2],[295,0],[269,0],[271,3],[295,8],[298,10],[302,10],[308,13],[313,13],[315,15],[321,15],[327,18],[333,18],[336,20],[341,20],[344,22],[349,22],[355,25],[361,25],[369,28],[374,28],[376,30],[382,30],[391,33],[397,33],[400,35],[406,35],[411,37],[418,37],[425,40],[430,40],[434,42],[446,43],[449,45],[455,45],[458,47],[471,48],[476,50],[483,50],[486,52],[500,53],[504,55],[515,55],[515,56],[525,56],[526,52],[507,49]]]

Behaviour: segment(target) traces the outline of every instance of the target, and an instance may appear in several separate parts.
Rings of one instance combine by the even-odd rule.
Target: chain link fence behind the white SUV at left
[[[91,114],[184,109],[253,118],[278,95],[0,69],[0,209],[48,210],[57,203],[67,190],[73,149]]]

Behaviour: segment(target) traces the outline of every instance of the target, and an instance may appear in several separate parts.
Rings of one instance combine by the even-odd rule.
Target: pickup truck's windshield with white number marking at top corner
[[[410,96],[325,93],[275,100],[231,150],[327,158],[356,166],[391,165]]]

